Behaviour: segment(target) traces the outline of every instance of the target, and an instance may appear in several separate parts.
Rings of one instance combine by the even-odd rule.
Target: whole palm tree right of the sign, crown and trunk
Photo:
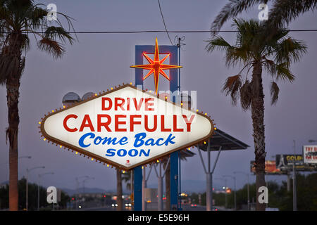
[[[234,20],[237,29],[237,41],[230,45],[223,37],[214,36],[207,42],[206,50],[215,49],[225,51],[225,63],[229,66],[240,64],[242,70],[226,79],[223,91],[231,96],[232,103],[240,103],[244,110],[251,110],[253,124],[254,153],[256,169],[256,188],[266,186],[265,183],[265,136],[264,136],[264,94],[262,84],[262,70],[266,70],[272,76],[271,104],[278,101],[279,88],[276,81],[294,81],[294,75],[290,71],[290,65],[297,62],[306,46],[301,41],[288,37],[288,31],[278,29],[270,39],[263,34],[263,23],[256,20]],[[248,72],[252,70],[251,77]],[[245,77],[242,77],[242,72]],[[258,201],[256,194],[256,210],[265,210],[265,205]]]

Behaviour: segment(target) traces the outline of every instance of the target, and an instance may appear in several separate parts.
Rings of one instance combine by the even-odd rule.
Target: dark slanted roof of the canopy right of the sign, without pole
[[[233,136],[221,131],[220,129],[216,129],[213,136],[209,139],[210,142],[210,150],[211,151],[218,151],[220,146],[221,150],[242,150],[247,149],[248,146],[246,143],[235,139]],[[208,143],[202,143],[199,145],[201,150],[207,151],[208,150]]]

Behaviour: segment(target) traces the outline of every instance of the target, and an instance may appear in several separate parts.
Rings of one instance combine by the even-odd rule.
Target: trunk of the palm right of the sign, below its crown
[[[253,124],[255,169],[256,169],[256,210],[265,211],[266,205],[259,203],[259,188],[266,186],[265,181],[265,134],[264,134],[264,94],[262,85],[261,62],[254,63],[252,74],[253,90],[251,101],[251,117]]]

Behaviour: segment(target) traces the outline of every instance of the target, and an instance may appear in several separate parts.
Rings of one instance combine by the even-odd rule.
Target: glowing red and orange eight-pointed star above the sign
[[[143,53],[143,56],[144,56],[144,58],[147,59],[149,64],[146,64],[146,65],[131,65],[130,68],[141,68],[141,69],[144,69],[144,70],[149,70],[147,75],[145,75],[143,77],[143,80],[147,79],[147,77],[149,77],[151,74],[154,74],[154,85],[155,85],[156,94],[157,94],[157,90],[158,90],[158,86],[159,86],[159,76],[160,75],[162,75],[163,77],[168,79],[168,81],[170,81],[170,77],[168,77],[168,75],[166,75],[166,72],[164,72],[164,70],[182,68],[182,66],[179,66],[179,65],[163,64],[164,61],[166,60],[166,58],[168,58],[168,56],[170,56],[170,53],[168,53],[167,56],[165,56],[163,59],[160,60],[160,57],[159,57],[159,45],[157,44],[157,37],[156,37],[156,41],[155,41],[154,60],[149,58],[149,56],[147,56],[147,53]]]

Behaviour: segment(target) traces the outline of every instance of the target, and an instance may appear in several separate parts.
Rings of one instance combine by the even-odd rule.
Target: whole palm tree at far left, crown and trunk
[[[63,29],[50,26],[46,20],[49,11],[34,4],[33,0],[1,0],[0,31],[3,33],[0,54],[0,84],[6,86],[8,105],[8,128],[6,139],[9,143],[9,209],[18,210],[18,113],[20,78],[25,66],[23,51],[30,49],[29,34],[34,35],[37,47],[58,58],[65,52],[66,41],[73,44],[73,37]],[[45,6],[46,7],[46,6]],[[67,15],[58,13],[66,18]],[[56,41],[59,39],[62,43]]]

